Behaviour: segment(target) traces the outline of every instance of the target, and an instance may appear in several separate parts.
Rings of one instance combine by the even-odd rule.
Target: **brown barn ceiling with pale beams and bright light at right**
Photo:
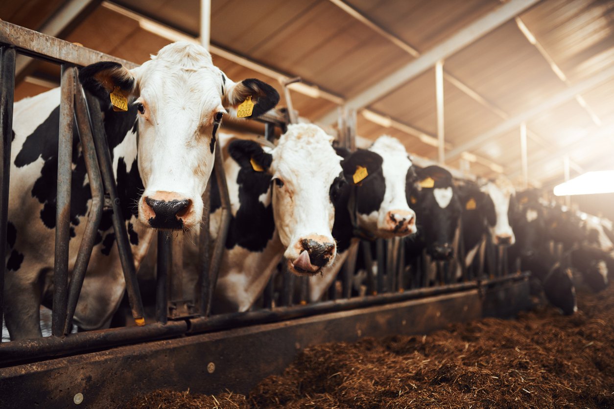
[[[614,2],[527,1],[503,17],[510,6],[214,0],[204,15],[198,0],[27,0],[2,2],[0,18],[134,63],[198,41],[209,18],[230,78],[273,84],[283,107],[282,82],[300,77],[289,86],[300,117],[334,127],[340,107],[353,109],[362,143],[390,134],[417,158],[519,188],[610,168]],[[20,60],[16,100],[59,85],[58,66]]]

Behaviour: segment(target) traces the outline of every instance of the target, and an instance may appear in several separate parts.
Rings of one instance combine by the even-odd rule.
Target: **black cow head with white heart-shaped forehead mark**
[[[450,172],[440,166],[416,167],[416,176],[408,180],[406,194],[415,203],[427,253],[435,260],[451,259],[461,203]]]

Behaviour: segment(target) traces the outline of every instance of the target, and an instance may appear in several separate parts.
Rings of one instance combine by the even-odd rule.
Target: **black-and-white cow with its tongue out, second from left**
[[[314,124],[290,124],[276,146],[229,142],[224,167],[232,218],[214,313],[251,308],[282,257],[299,276],[325,273],[335,262],[335,204],[346,182],[332,140]],[[212,238],[219,207],[212,185]]]

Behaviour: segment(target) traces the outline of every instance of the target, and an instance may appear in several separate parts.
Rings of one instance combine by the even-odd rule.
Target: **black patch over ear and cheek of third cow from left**
[[[343,159],[341,167],[350,185],[354,185],[354,172],[358,166],[366,167],[368,176],[356,185],[356,210],[368,215],[379,210],[386,192],[386,180],[382,172],[384,159],[375,152],[364,149],[356,150]]]

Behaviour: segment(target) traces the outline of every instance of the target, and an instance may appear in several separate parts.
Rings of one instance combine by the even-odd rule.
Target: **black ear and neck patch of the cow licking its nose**
[[[236,245],[249,251],[263,251],[266,243],[273,237],[275,223],[273,207],[265,205],[258,199],[268,191],[271,175],[257,172],[252,168],[250,159],[254,158],[263,169],[271,166],[272,156],[251,140],[235,140],[228,145],[228,153],[241,167],[236,178],[239,185],[239,209],[231,218],[228,227],[226,248]],[[216,178],[211,180],[211,213],[221,205]]]

